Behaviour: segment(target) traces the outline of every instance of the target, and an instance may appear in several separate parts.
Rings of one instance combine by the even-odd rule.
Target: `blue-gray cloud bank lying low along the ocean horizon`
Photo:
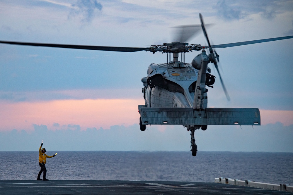
[[[79,125],[33,125],[33,132],[17,130],[0,132],[0,151],[37,151],[42,140],[50,151],[189,151],[190,134],[182,126],[153,125],[141,132],[139,125],[114,125],[110,129]],[[197,130],[195,139],[199,151],[261,151],[293,152],[293,125],[282,123],[262,126],[209,126]]]

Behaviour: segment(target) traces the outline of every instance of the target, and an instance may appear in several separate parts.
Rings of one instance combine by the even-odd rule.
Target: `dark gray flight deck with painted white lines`
[[[0,181],[0,194],[292,194],[203,182],[166,181]]]

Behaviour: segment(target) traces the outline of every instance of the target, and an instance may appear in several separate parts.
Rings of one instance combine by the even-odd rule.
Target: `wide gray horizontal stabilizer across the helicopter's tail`
[[[139,105],[144,125],[260,125],[258,108],[146,108]]]

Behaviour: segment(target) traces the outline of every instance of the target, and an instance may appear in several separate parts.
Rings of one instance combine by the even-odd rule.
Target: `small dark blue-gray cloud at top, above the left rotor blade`
[[[78,0],[76,4],[71,5],[70,17],[79,17],[81,22],[90,23],[96,11],[102,11],[102,4],[96,0]]]

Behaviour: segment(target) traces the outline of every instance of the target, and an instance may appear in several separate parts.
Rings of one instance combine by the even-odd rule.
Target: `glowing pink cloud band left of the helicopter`
[[[0,102],[0,130],[33,130],[33,124],[52,127],[80,125],[86,128],[109,128],[112,125],[139,123],[137,105],[141,99],[84,99],[38,102]]]

